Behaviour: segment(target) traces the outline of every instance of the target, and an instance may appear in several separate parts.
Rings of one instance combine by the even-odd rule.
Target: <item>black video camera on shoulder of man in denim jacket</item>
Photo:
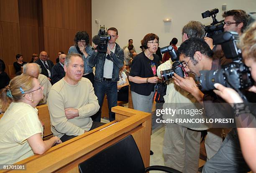
[[[106,32],[105,26],[100,26],[98,36],[100,37],[100,44],[97,46],[97,51],[106,53],[111,36]]]

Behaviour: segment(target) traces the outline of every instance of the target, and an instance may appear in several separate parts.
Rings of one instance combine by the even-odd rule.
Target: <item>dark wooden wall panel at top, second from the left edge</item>
[[[38,27],[37,0],[18,0],[20,25]]]

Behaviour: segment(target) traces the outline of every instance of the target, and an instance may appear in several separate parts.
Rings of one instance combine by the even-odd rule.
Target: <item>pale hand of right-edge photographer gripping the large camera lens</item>
[[[214,84],[214,87],[216,89],[214,89],[213,92],[222,97],[226,102],[230,103],[231,106],[233,106],[233,103],[243,103],[243,99],[234,89],[218,83]]]

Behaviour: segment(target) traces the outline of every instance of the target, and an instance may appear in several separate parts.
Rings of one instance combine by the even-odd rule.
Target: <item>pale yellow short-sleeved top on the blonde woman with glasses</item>
[[[44,128],[37,109],[24,102],[12,102],[0,120],[0,164],[13,164],[34,155],[28,137]]]

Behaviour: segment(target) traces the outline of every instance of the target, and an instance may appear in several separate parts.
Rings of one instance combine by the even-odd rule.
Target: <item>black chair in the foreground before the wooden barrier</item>
[[[181,173],[166,166],[144,167],[141,153],[132,135],[100,151],[78,165],[80,173],[145,173],[161,170],[167,173]]]

